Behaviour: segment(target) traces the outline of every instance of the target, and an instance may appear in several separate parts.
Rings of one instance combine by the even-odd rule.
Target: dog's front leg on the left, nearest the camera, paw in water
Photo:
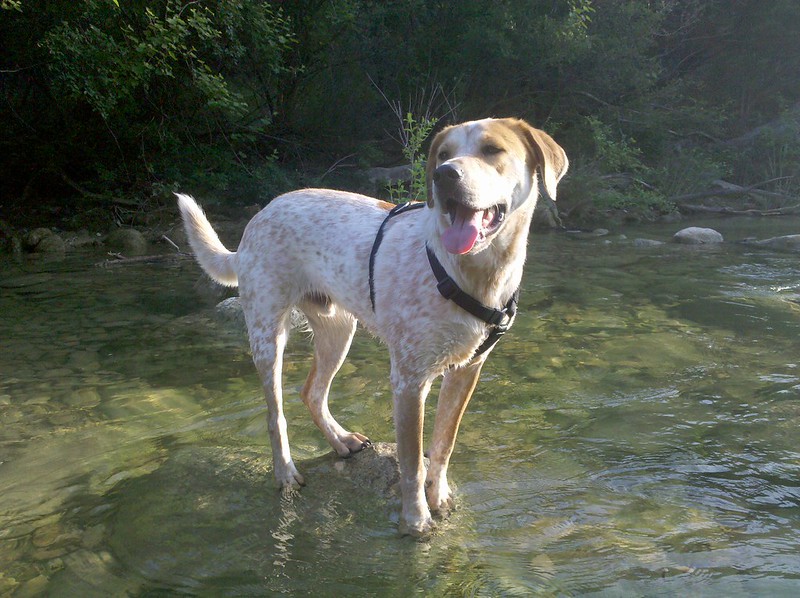
[[[422,459],[422,423],[425,397],[431,381],[409,378],[393,367],[392,386],[403,501],[400,531],[423,536],[433,527],[431,513],[425,502],[425,464]]]

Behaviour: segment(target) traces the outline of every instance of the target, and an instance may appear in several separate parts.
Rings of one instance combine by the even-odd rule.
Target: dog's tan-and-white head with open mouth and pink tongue
[[[439,210],[450,253],[485,249],[506,218],[527,201],[535,206],[537,171],[548,195],[567,171],[567,155],[544,131],[514,118],[447,127],[428,153],[428,206]]]

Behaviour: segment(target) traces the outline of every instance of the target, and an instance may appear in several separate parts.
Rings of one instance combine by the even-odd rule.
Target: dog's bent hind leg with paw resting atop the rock
[[[349,432],[339,425],[328,408],[328,393],[350,349],[356,319],[338,306],[320,305],[315,300],[304,301],[300,308],[314,333],[314,362],[300,396],[333,450],[340,457],[349,457],[369,446],[370,441],[363,434]]]

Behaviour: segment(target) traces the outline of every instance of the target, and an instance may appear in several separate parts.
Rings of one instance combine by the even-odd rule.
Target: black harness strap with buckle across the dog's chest
[[[479,355],[483,355],[486,351],[494,347],[495,344],[497,344],[497,341],[500,340],[500,337],[508,332],[508,330],[511,328],[514,315],[517,313],[517,304],[519,303],[519,288],[514,291],[514,294],[511,295],[511,298],[508,300],[505,306],[503,306],[503,309],[489,307],[488,305],[484,305],[471,295],[468,295],[461,290],[461,287],[459,287],[456,282],[450,278],[450,275],[447,274],[447,271],[436,257],[436,254],[433,253],[427,244],[425,244],[425,251],[428,254],[428,263],[431,265],[433,275],[438,281],[436,288],[439,290],[439,293],[442,295],[442,297],[452,301],[467,313],[475,316],[483,322],[486,322],[492,327],[492,329],[489,331],[489,335],[486,337],[486,340],[484,340],[483,343],[481,343],[481,345],[475,350],[475,354],[472,356],[472,358],[475,359]]]

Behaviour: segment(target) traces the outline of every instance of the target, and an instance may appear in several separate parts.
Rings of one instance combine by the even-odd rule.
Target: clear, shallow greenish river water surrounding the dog
[[[764,238],[800,220],[713,226]],[[427,542],[397,535],[396,504],[324,476],[278,494],[246,344],[209,316],[193,262],[6,258],[0,595],[795,595],[798,256],[531,246],[453,455],[458,510]],[[296,335],[301,470],[328,451],[298,397],[308,366]],[[386,354],[365,335],[332,404],[393,439]]]

